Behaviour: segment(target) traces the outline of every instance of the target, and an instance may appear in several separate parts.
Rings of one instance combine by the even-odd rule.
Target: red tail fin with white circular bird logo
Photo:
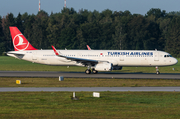
[[[17,27],[9,27],[15,51],[37,50],[34,48]]]

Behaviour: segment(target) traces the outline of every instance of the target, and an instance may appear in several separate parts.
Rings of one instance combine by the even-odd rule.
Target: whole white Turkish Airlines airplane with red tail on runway
[[[87,67],[86,74],[98,71],[121,70],[124,66],[158,67],[171,66],[178,61],[169,53],[157,50],[38,50],[34,48],[17,27],[9,27],[15,51],[8,56],[34,63],[60,66]]]

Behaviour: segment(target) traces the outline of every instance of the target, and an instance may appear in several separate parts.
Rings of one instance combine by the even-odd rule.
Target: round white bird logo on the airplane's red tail
[[[29,42],[24,40],[25,37],[22,34],[17,34],[13,39],[14,48],[16,50],[26,50],[29,46]]]

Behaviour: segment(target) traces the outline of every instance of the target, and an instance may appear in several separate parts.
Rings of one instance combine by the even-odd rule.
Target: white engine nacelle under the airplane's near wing
[[[101,62],[94,66],[94,69],[97,71],[111,71],[112,70],[112,63],[108,62]]]

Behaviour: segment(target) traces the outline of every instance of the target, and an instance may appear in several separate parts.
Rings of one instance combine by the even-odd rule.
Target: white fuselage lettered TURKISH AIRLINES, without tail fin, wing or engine
[[[108,61],[113,66],[170,66],[177,59],[169,53],[155,50],[57,50],[64,56]],[[20,55],[19,55],[20,54]],[[24,55],[21,55],[24,54]],[[7,55],[47,65],[83,66],[77,61],[57,57],[53,50],[10,51]]]

